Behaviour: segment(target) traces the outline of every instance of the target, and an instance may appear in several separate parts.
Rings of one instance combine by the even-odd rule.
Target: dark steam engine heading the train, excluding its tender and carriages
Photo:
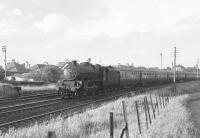
[[[102,88],[103,68],[89,62],[69,62],[64,67],[63,79],[58,83],[62,97],[91,95]]]

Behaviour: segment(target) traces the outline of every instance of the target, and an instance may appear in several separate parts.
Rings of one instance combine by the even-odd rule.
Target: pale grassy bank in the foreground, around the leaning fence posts
[[[197,137],[198,131],[195,129],[191,121],[190,113],[186,107],[189,95],[185,93],[197,92],[200,88],[199,84],[199,82],[178,84],[178,92],[184,93],[184,95],[170,99],[170,103],[166,108],[160,110],[160,115],[156,116],[156,119],[153,120],[148,130],[145,126],[144,110],[141,108],[142,105],[139,105],[142,134],[138,132],[135,101],[143,100],[144,96],[148,96],[148,94],[119,99],[98,109],[74,115],[66,120],[58,117],[43,124],[35,124],[30,128],[19,130],[10,129],[4,137],[45,137],[48,131],[55,131],[59,138],[109,137],[109,112],[114,113],[114,137],[119,137],[125,126],[121,105],[122,100],[127,105],[130,137]],[[165,88],[153,91],[153,93],[168,92],[168,90],[169,88]]]

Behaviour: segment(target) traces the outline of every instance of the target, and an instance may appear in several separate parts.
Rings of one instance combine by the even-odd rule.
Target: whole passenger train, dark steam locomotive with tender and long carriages
[[[177,72],[177,81],[194,80],[195,73]],[[93,65],[89,62],[69,62],[64,69],[64,77],[57,83],[58,94],[62,98],[94,95],[123,88],[171,83],[173,72],[136,70]]]

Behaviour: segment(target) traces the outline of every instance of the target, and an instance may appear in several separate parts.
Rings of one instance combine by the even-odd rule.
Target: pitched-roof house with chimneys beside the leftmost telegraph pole
[[[11,74],[22,74],[29,71],[25,68],[25,64],[19,64],[15,60],[12,60],[11,62],[7,63],[6,68],[7,71]]]

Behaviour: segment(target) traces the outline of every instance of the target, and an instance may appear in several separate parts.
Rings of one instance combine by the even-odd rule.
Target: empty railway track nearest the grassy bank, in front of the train
[[[169,86],[169,85],[164,85]],[[88,97],[83,99],[58,100],[55,102],[41,101],[39,105],[29,103],[29,105],[18,105],[18,107],[10,106],[0,108],[0,128],[7,130],[10,126],[20,127],[20,124],[30,124],[30,122],[49,120],[52,116],[65,115],[65,117],[74,113],[82,112],[85,108],[93,108],[94,105],[117,99],[122,96],[140,93],[141,91],[149,91],[164,86],[155,86],[150,88],[138,89],[131,91],[130,89],[121,90],[118,93],[109,93],[109,95],[99,95],[97,97]],[[105,98],[107,97],[107,98]],[[46,102],[46,103],[45,103]],[[92,106],[91,106],[92,105]],[[91,107],[90,107],[91,106]],[[27,122],[27,123],[26,123]],[[29,122],[29,123],[28,123]]]

